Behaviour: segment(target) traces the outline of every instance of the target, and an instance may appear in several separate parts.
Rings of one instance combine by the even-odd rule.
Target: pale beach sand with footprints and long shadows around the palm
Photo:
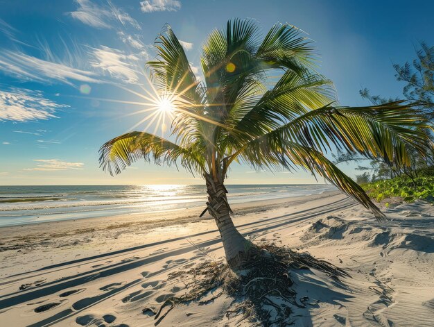
[[[428,203],[388,208],[385,223],[336,192],[233,209],[241,233],[348,269],[342,285],[319,271],[291,272],[297,297],[310,303],[294,308],[295,326],[434,326]],[[142,310],[186,292],[168,274],[207,260],[190,242],[223,255],[200,211],[0,228],[0,326],[155,326]],[[179,305],[158,326],[236,326],[239,317],[225,317],[231,302]]]

